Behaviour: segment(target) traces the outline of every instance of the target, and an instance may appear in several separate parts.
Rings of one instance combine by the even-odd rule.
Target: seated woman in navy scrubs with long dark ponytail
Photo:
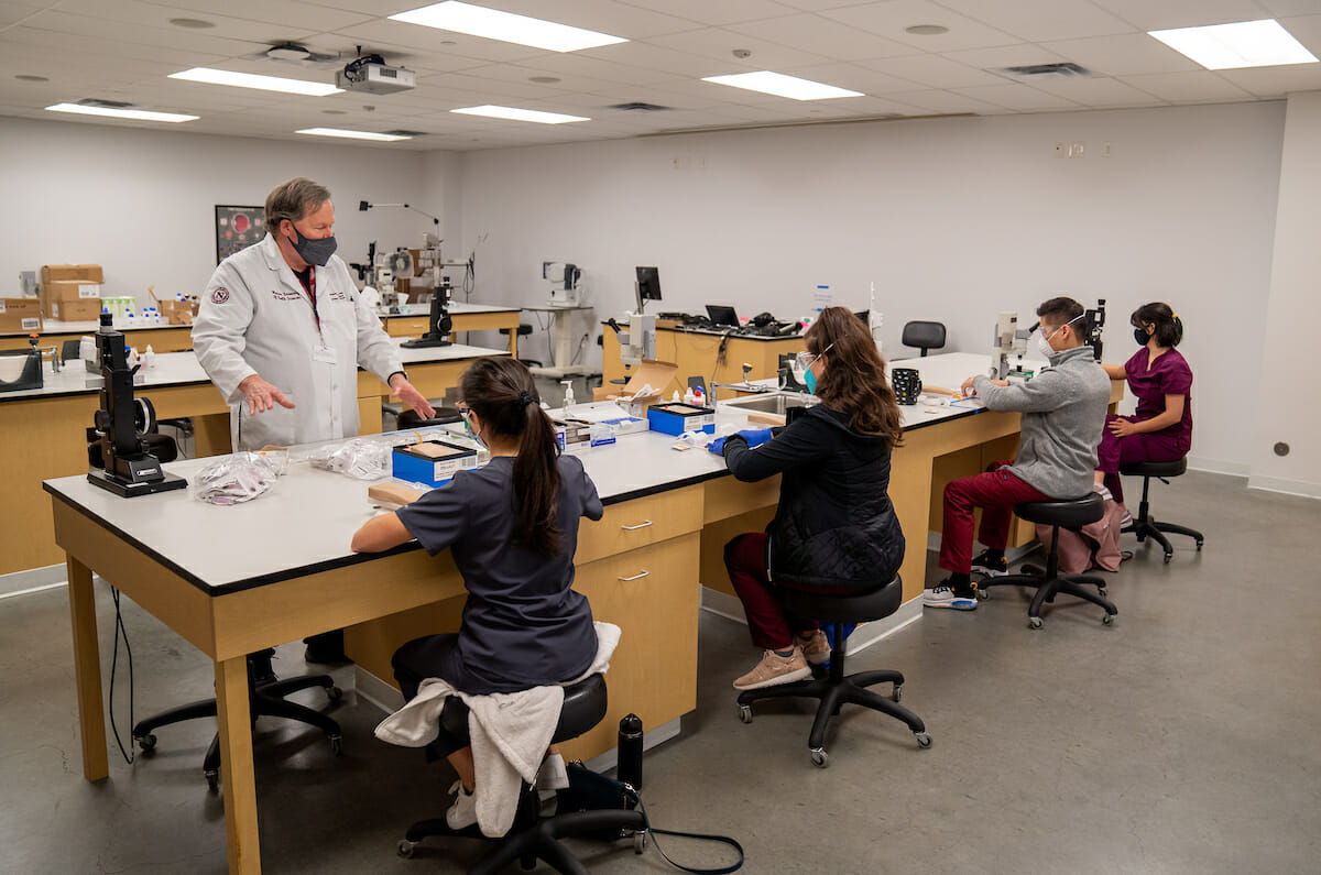
[[[468,601],[458,633],[417,638],[395,652],[395,678],[407,699],[432,677],[474,695],[563,683],[596,658],[592,607],[572,588],[579,519],[604,513],[596,485],[581,461],[560,455],[526,365],[480,358],[460,390],[464,418],[490,449],[490,463],[460,471],[353,537],[359,552],[413,538],[431,555],[449,547],[464,576]],[[462,785],[446,813],[449,826],[476,823],[473,751],[445,732],[436,744]]]

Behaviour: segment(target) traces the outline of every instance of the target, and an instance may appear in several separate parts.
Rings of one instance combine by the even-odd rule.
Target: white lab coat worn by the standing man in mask
[[[275,238],[229,256],[211,275],[193,324],[193,349],[230,403],[235,449],[288,447],[358,434],[358,366],[383,382],[402,371],[386,334],[338,255],[314,267],[316,313]],[[317,316],[321,319],[317,329]],[[250,416],[239,383],[260,374],[293,402]]]

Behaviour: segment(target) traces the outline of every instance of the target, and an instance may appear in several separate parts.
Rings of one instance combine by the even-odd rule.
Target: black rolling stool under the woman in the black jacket
[[[820,699],[820,706],[816,708],[816,719],[812,722],[811,735],[807,736],[807,748],[811,752],[812,763],[820,768],[830,765],[830,756],[826,753],[824,747],[826,727],[830,724],[830,719],[839,714],[840,706],[845,703],[861,704],[865,708],[872,708],[873,711],[880,711],[897,720],[902,720],[913,731],[913,735],[917,736],[919,747],[931,747],[931,736],[926,734],[922,718],[898,704],[900,690],[904,687],[902,674],[890,670],[844,674],[843,624],[881,620],[898,611],[904,600],[902,584],[898,575],[894,575],[894,579],[884,587],[859,595],[826,595],[787,588],[781,592],[783,593],[783,604],[787,612],[835,624],[835,634],[830,650],[830,670],[815,669],[819,675],[811,681],[797,681],[794,683],[781,683],[778,686],[740,693],[738,719],[744,723],[752,723],[752,703],[760,699],[787,697]],[[888,682],[894,683],[893,702],[867,689]]]

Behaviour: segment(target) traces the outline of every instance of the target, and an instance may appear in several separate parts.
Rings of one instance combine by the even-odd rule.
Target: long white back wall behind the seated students
[[[572,260],[601,316],[633,305],[635,264],[659,266],[662,309],[745,316],[801,316],[818,283],[863,308],[875,282],[890,357],[910,354],[908,320],[980,350],[997,311],[1067,292],[1108,300],[1123,361],[1128,313],[1168,300],[1197,374],[1194,464],[1247,473],[1283,127],[1284,103],[1243,103],[473,152],[464,248],[477,299],[543,300],[542,260]],[[1089,156],[1055,159],[1059,140]]]

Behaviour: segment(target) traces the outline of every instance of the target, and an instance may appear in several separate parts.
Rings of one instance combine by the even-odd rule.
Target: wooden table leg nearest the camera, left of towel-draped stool
[[[221,780],[225,782],[225,833],[230,875],[260,872],[256,769],[252,767],[252,718],[248,715],[247,657],[215,664],[217,719],[221,724]]]

